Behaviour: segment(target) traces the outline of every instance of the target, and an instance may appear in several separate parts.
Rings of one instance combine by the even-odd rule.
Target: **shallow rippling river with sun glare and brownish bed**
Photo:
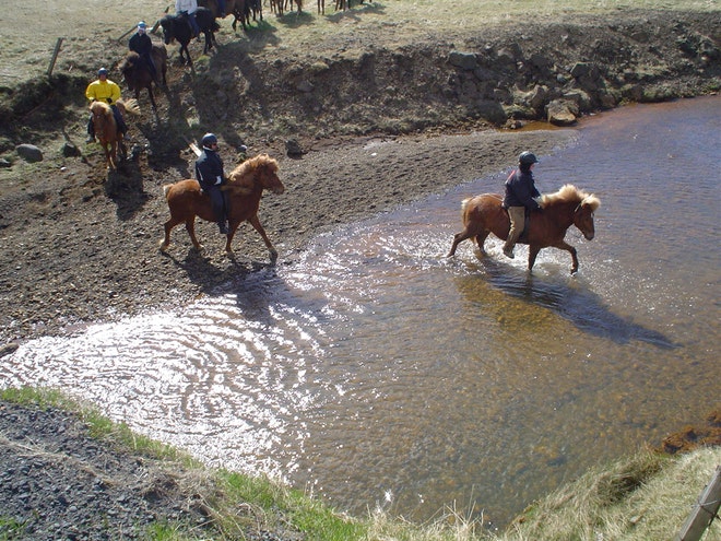
[[[353,514],[454,505],[503,526],[718,407],[720,105],[626,107],[540,156],[542,191],[571,181],[602,202],[594,240],[566,237],[576,277],[553,249],[529,275],[525,247],[509,260],[495,238],[487,258],[470,242],[444,257],[460,200],[498,191],[498,172],[176,313],[28,342],[0,386],[64,389]]]

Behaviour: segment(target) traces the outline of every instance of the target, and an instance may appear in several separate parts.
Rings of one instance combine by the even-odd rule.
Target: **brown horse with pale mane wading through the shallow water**
[[[503,197],[498,193],[484,193],[463,200],[461,204],[463,231],[453,236],[453,246],[448,257],[453,256],[459,243],[468,238],[475,237],[483,254],[485,254],[483,244],[490,233],[506,240],[510,220],[501,202]],[[571,255],[571,274],[576,273],[578,257],[576,248],[564,240],[566,231],[575,225],[588,240],[591,240],[595,234],[593,213],[600,204],[601,201],[595,196],[588,195],[570,184],[556,193],[543,196],[541,200],[543,210],[531,213],[528,233],[524,232],[519,239],[519,243],[529,245],[529,271],[533,269],[541,248],[553,246]]]

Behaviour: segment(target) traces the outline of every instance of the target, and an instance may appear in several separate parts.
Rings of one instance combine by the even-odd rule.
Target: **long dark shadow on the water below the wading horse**
[[[681,346],[664,333],[611,311],[599,295],[579,283],[579,277],[572,279],[564,277],[563,281],[554,277],[542,278],[525,270],[511,270],[508,264],[488,257],[478,259],[472,266],[496,290],[546,308],[591,336],[612,340],[618,344],[628,344],[637,340],[663,350]],[[459,290],[474,291],[468,282],[478,280],[481,275],[474,273],[458,278]]]

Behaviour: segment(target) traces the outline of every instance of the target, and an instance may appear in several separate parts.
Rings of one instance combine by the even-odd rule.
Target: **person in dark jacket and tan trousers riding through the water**
[[[527,209],[529,211],[541,210],[539,202],[533,199],[541,197],[541,193],[535,188],[531,172],[533,164],[537,163],[535,154],[529,151],[521,152],[518,157],[518,169],[511,173],[506,180],[506,197],[504,197],[503,207],[508,210],[511,224],[504,245],[504,255],[511,259],[513,259],[513,246],[523,233]]]

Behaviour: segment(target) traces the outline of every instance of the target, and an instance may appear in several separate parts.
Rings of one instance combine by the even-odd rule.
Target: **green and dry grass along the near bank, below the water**
[[[721,447],[669,456],[641,450],[612,464],[590,470],[580,479],[530,505],[496,533],[486,530],[470,511],[447,508],[428,524],[376,513],[352,518],[335,513],[315,497],[264,477],[209,469],[165,444],[132,433],[90,408],[51,389],[0,391],[0,399],[26,407],[61,408],[75,412],[98,439],[127,450],[178,463],[189,471],[186,484],[203,498],[217,537],[243,539],[248,527],[268,531],[300,531],[308,541],[544,541],[671,539],[690,514],[717,464]],[[22,534],[23,525],[0,516],[0,541]],[[198,532],[184,525],[156,522],[147,539],[185,541]],[[704,541],[721,540],[716,520]]]

